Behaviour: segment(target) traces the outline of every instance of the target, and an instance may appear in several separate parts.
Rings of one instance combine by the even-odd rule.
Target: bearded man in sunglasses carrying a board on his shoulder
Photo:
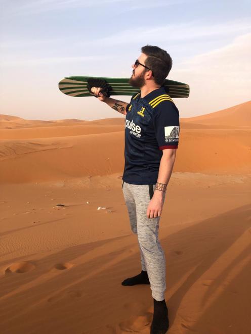
[[[157,46],[146,45],[141,51],[129,80],[140,92],[129,104],[105,97],[100,87],[93,87],[92,92],[125,115],[122,192],[131,229],[138,235],[142,270],[121,284],[150,284],[154,309],[151,334],[163,334],[169,319],[164,299],[165,255],[158,229],[178,148],[179,111],[162,86],[172,68],[172,58]]]

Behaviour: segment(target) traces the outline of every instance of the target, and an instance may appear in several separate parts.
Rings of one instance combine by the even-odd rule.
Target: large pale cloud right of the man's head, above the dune
[[[171,71],[170,79],[190,85],[190,97],[177,99],[187,116],[201,115],[250,100],[251,33],[217,50],[192,57]],[[196,109],[194,109],[196,106]]]

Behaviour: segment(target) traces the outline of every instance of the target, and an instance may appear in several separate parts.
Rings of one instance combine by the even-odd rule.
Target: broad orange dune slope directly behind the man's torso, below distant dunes
[[[0,182],[36,182],[113,174],[123,170],[123,151],[123,131],[1,140]],[[248,131],[183,129],[174,171],[248,174],[250,154]]]

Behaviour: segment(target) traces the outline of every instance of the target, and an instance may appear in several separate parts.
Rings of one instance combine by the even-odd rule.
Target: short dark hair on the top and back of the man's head
[[[148,56],[145,60],[145,65],[152,70],[154,81],[162,85],[172,68],[172,58],[165,50],[160,49],[158,46],[142,46],[141,52]]]

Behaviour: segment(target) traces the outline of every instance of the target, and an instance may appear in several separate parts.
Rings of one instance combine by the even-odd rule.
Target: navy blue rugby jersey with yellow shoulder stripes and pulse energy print
[[[178,148],[179,110],[164,87],[144,98],[140,94],[135,94],[126,108],[122,180],[155,184],[162,150]]]

